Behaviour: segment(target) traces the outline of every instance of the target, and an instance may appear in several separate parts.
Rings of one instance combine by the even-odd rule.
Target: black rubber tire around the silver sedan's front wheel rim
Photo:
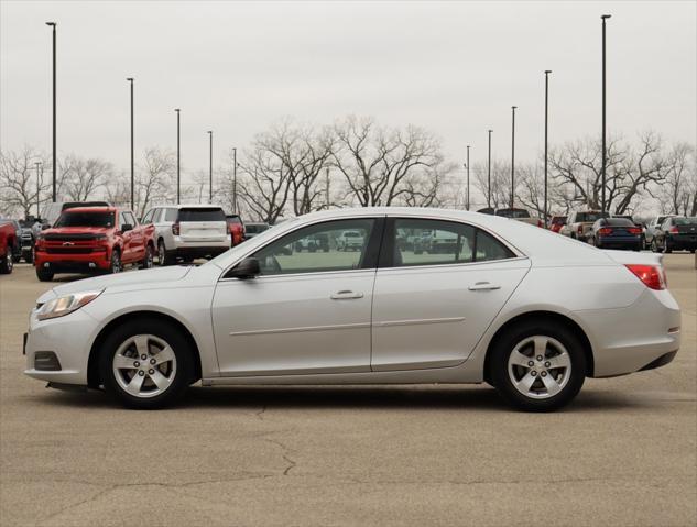
[[[176,371],[170,386],[152,397],[142,398],[126,392],[116,378],[112,363],[119,347],[137,334],[152,334],[166,341],[176,358]],[[194,356],[189,342],[174,325],[159,319],[139,319],[119,325],[107,336],[99,356],[99,375],[108,395],[134,409],[156,409],[176,403],[194,381]]]

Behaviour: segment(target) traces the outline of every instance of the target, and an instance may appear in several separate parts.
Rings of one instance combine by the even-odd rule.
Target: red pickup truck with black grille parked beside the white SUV
[[[129,264],[150,268],[155,253],[154,233],[152,224],[140,224],[128,209],[67,209],[36,239],[36,276],[46,282],[56,273],[118,273]]]

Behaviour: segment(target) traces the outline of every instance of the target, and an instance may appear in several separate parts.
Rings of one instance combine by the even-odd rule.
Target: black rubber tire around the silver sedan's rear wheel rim
[[[509,375],[509,358],[515,347],[533,336],[544,336],[558,341],[570,359],[570,373],[564,387],[546,398],[523,395],[513,385]],[[514,408],[524,411],[553,411],[566,406],[578,394],[587,372],[586,354],[578,338],[564,326],[548,320],[526,321],[512,326],[498,338],[490,350],[489,378],[501,397]],[[535,381],[537,382],[537,381]],[[542,383],[542,378],[538,380]]]

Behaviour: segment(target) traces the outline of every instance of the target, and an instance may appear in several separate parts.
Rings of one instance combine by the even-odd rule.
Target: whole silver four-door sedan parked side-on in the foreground
[[[357,251],[340,251],[358,232]],[[454,239],[437,252],[397,240]],[[288,252],[322,237],[328,251]],[[493,385],[553,410],[586,377],[669,363],[680,311],[661,255],[602,251],[475,212],[363,208],[294,218],[200,266],[89,278],[42,295],[26,371],[133,408],[204,386]]]

